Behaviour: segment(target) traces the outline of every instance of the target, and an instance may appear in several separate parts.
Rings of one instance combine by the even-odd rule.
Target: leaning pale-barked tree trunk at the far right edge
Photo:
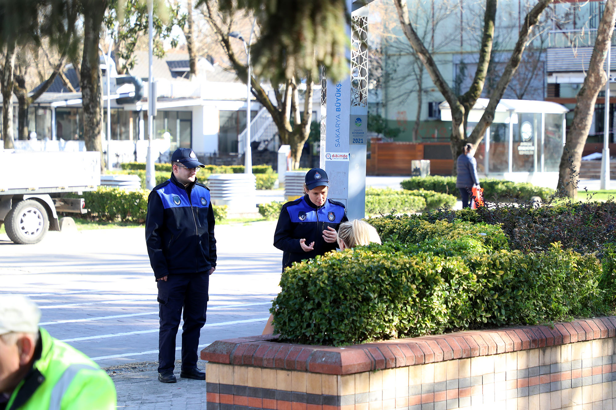
[[[562,151],[557,187],[559,190],[566,190],[567,195],[572,198],[577,196],[577,176],[582,162],[582,150],[593,121],[594,104],[607,80],[603,64],[607,55],[607,47],[610,47],[612,42],[616,20],[615,10],[616,0],[607,0],[606,9],[597,30],[597,38],[594,41],[593,55],[590,57],[586,78],[577,95],[573,123],[567,132],[565,149]],[[608,109],[609,103],[606,104],[606,112]]]

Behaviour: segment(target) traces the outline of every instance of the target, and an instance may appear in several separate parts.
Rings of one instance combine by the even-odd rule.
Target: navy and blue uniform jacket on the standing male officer
[[[156,186],[148,196],[145,243],[156,279],[216,267],[209,189],[198,181],[184,188],[173,174]]]

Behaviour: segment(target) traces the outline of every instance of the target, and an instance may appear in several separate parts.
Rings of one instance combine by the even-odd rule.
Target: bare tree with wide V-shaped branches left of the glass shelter
[[[524,17],[524,21],[522,22],[521,30],[519,31],[519,36],[511,54],[511,58],[509,58],[509,62],[505,66],[505,70],[503,70],[498,84],[496,84],[492,95],[490,95],[490,102],[484,111],[484,115],[471,132],[471,135],[467,138],[466,124],[468,123],[468,115],[471,108],[477,102],[477,98],[480,97],[482,90],[484,89],[488,65],[490,63],[490,55],[492,54],[496,17],[496,0],[486,0],[485,2],[484,22],[482,25],[482,41],[478,58],[479,62],[477,63],[477,70],[470,89],[462,95],[456,95],[454,90],[452,90],[449,84],[447,84],[447,81],[445,81],[445,78],[440,73],[437,63],[432,57],[431,51],[424,45],[424,42],[416,33],[415,28],[411,25],[407,0],[394,0],[405,36],[407,36],[411,47],[413,47],[415,52],[418,54],[419,59],[426,67],[426,71],[428,71],[432,82],[439,89],[441,94],[443,94],[452,110],[451,149],[453,158],[457,158],[461,155],[466,142],[471,142],[477,146],[477,143],[479,143],[484,137],[485,129],[487,129],[494,119],[496,105],[500,101],[503,92],[505,92],[509,81],[511,81],[513,74],[517,70],[517,67],[520,65],[521,56],[527,45],[529,35],[533,30],[533,27],[537,24],[543,10],[545,10],[545,8],[552,1],[553,0],[539,0]],[[453,174],[455,174],[455,172],[456,170],[454,166]]]

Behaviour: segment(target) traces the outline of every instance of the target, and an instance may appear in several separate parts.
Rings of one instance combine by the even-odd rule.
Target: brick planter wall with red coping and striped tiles
[[[616,397],[615,316],[346,347],[268,339],[201,352],[209,410],[612,408]]]

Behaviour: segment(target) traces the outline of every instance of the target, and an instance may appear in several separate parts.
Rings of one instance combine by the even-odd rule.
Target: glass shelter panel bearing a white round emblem
[[[541,114],[519,113],[513,124],[513,172],[540,171]]]

